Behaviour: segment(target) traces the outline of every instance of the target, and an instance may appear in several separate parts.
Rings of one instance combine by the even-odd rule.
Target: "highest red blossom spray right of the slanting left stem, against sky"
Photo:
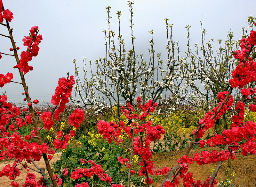
[[[38,34],[38,26],[31,27],[29,31],[29,36],[25,36],[22,40],[24,42],[23,45],[27,46],[27,51],[21,52],[20,63],[14,66],[14,68],[19,68],[20,72],[24,74],[33,70],[33,67],[28,65],[28,61],[31,61],[33,56],[37,56],[39,51],[38,45],[41,43],[41,40],[43,40],[42,35]]]

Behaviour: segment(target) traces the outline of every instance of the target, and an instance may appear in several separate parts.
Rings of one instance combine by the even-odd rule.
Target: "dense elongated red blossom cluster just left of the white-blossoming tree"
[[[75,84],[74,76],[70,76],[69,79],[62,77],[58,81],[58,86],[55,89],[54,95],[52,95],[51,103],[54,105],[59,105],[54,113],[55,120],[59,120],[60,113],[62,113],[66,108],[66,103],[69,102],[68,97],[71,96],[73,85]]]

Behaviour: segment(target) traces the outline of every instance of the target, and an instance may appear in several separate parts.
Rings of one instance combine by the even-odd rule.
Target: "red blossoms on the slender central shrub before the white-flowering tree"
[[[139,155],[142,158],[142,162],[140,163],[141,169],[139,170],[139,176],[147,176],[146,173],[150,173],[151,175],[164,175],[170,169],[163,168],[157,169],[155,171],[153,161],[150,161],[150,158],[152,157],[152,151],[150,150],[149,144],[151,141],[160,139],[161,134],[164,134],[165,130],[161,125],[152,126],[151,121],[147,121],[146,123],[139,125],[139,121],[142,121],[145,117],[150,115],[150,112],[153,112],[155,110],[157,103],[153,104],[152,100],[149,100],[148,103],[142,106],[140,97],[137,98],[137,103],[138,109],[141,110],[141,113],[139,113],[138,111],[135,112],[134,107],[130,103],[127,103],[128,109],[122,107],[121,110],[128,119],[134,120],[134,122],[130,123],[130,126],[125,126],[123,121],[119,122],[119,126],[113,121],[111,121],[110,123],[106,121],[99,121],[97,123],[98,132],[100,134],[103,134],[103,139],[107,139],[109,143],[112,142],[113,138],[117,144],[122,142],[122,139],[119,138],[120,135],[132,138],[139,132],[142,134],[146,133],[147,136],[145,137],[145,139],[143,139],[140,135],[133,137],[133,153],[135,155]],[[127,158],[123,159],[123,157],[120,156],[118,157],[118,161],[121,164],[126,163],[128,168],[130,167],[128,163],[129,160]],[[152,178],[146,178],[146,181],[148,181],[149,184],[153,182]]]

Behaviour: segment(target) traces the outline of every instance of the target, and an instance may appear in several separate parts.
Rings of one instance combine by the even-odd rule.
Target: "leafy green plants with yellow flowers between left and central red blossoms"
[[[115,142],[108,143],[102,139],[102,135],[95,134],[94,131],[88,133],[90,136],[83,136],[80,139],[81,146],[68,146],[65,152],[62,153],[60,160],[53,164],[55,174],[60,174],[63,169],[68,169],[70,175],[76,168],[90,168],[90,163],[81,163],[80,158],[88,161],[93,160],[100,164],[104,172],[112,177],[113,183],[127,183],[128,169],[118,162],[117,158],[121,155],[127,157],[127,151],[123,147],[118,146]],[[88,182],[92,186],[109,186],[108,183],[101,181],[97,175],[91,178],[82,177],[77,180],[72,180],[70,177],[61,177],[66,186],[74,186],[77,183]],[[140,186],[141,177],[132,176],[132,183],[135,186]]]

